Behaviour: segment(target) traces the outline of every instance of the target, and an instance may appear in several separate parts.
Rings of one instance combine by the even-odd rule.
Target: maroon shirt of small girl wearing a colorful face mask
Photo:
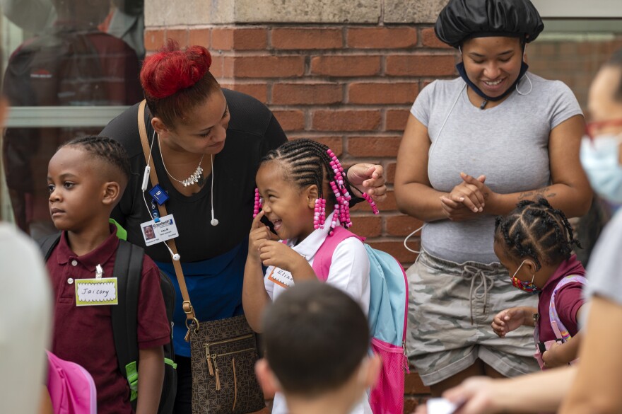
[[[563,279],[563,277],[570,275],[585,277],[585,268],[583,268],[581,262],[577,260],[576,255],[570,256],[568,260],[565,260],[559,265],[555,273],[553,273],[553,276],[548,278],[540,293],[538,300],[538,313],[540,315],[538,319],[538,329],[542,342],[556,338],[555,332],[553,332],[553,328],[551,328],[548,306],[551,304],[553,290],[558,282]],[[572,336],[575,336],[579,330],[577,326],[577,311],[579,311],[579,308],[585,302],[581,294],[582,289],[583,285],[579,282],[571,282],[561,287],[555,295],[555,309],[557,310],[557,314]]]

